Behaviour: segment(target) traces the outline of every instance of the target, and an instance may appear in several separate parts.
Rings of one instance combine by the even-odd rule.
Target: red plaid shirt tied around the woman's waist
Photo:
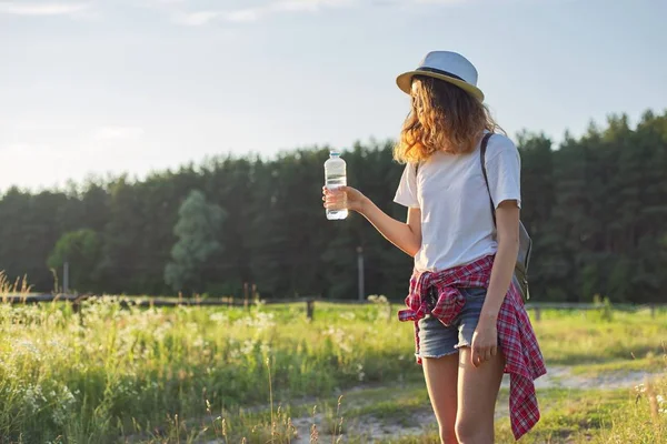
[[[430,313],[445,325],[451,325],[466,304],[460,287],[488,287],[494,256],[486,256],[468,265],[438,273],[417,273],[410,279],[407,310],[398,313],[400,321],[415,322],[415,345],[419,354],[418,321]],[[428,290],[435,287],[438,301],[429,311]],[[505,354],[505,373],[509,373],[509,416],[516,440],[539,421],[539,406],[535,394],[536,379],[547,373],[545,362],[532,331],[521,295],[514,284],[498,312],[498,341]],[[417,362],[421,364],[421,359]]]

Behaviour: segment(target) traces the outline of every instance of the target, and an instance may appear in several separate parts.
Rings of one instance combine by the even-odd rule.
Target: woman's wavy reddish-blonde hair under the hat
[[[416,75],[411,95],[412,108],[394,148],[400,163],[425,161],[437,151],[467,153],[484,130],[504,132],[484,103],[446,81]]]

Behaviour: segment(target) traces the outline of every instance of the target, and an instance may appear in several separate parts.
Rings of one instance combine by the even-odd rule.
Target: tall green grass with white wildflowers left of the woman
[[[352,320],[350,316],[354,316]],[[276,396],[327,395],[416,369],[410,330],[375,307],[308,323],[298,310],[125,310],[0,305],[0,436],[104,442],[166,418],[202,416]]]

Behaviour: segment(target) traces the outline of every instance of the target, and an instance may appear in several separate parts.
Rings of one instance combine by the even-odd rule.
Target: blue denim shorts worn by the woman
[[[480,287],[459,290],[466,299],[466,305],[451,325],[445,326],[430,314],[419,320],[419,357],[441,357],[472,344],[472,333],[477,329],[487,291]]]

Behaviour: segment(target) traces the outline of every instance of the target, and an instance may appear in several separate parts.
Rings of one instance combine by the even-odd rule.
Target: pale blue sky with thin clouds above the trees
[[[558,141],[667,109],[665,0],[0,0],[0,193],[396,138],[396,75],[478,69],[502,128]]]

